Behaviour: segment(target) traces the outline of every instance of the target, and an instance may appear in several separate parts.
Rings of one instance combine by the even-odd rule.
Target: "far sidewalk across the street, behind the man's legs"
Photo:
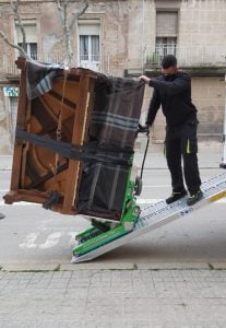
[[[134,164],[141,167],[143,161],[144,147],[135,153]],[[200,168],[218,168],[223,156],[223,143],[212,142],[205,143],[201,142],[199,144],[199,166]],[[0,155],[0,169],[11,169],[12,168],[12,156],[11,155]],[[145,168],[147,169],[163,169],[167,168],[166,159],[164,157],[163,144],[151,144],[148,148],[148,153],[146,155]]]

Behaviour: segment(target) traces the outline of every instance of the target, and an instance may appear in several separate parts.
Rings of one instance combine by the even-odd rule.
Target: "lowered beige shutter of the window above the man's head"
[[[156,36],[177,36],[177,12],[157,12]]]

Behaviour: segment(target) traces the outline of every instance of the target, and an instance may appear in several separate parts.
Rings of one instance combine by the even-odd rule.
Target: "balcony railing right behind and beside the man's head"
[[[165,55],[175,55],[180,67],[225,67],[225,45],[175,45],[143,46],[143,67],[159,66]]]

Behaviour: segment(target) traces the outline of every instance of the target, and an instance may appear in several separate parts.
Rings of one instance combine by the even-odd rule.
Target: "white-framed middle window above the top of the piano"
[[[99,70],[99,21],[79,21],[80,66]]]

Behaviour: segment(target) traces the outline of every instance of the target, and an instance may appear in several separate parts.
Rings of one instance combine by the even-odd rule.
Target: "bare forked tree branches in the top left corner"
[[[15,17],[16,17],[16,23],[17,23],[19,28],[21,30],[22,37],[23,37],[22,46],[19,46],[15,43],[11,42],[2,30],[0,30],[0,37],[10,47],[12,47],[14,49],[17,49],[22,57],[31,59],[31,57],[26,54],[26,33],[25,33],[25,30],[24,30],[24,26],[23,26],[23,23],[22,23],[22,20],[21,20],[20,12],[19,12],[19,4],[20,4],[20,0],[16,0],[15,2],[13,0],[11,0],[11,8],[12,8],[12,11],[13,11]]]

